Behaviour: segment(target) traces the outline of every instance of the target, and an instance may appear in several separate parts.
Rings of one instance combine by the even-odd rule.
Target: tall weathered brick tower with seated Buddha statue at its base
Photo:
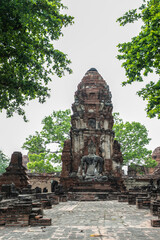
[[[61,183],[67,191],[120,191],[122,154],[114,140],[109,86],[95,68],[83,77],[72,105],[71,140],[64,144]]]

